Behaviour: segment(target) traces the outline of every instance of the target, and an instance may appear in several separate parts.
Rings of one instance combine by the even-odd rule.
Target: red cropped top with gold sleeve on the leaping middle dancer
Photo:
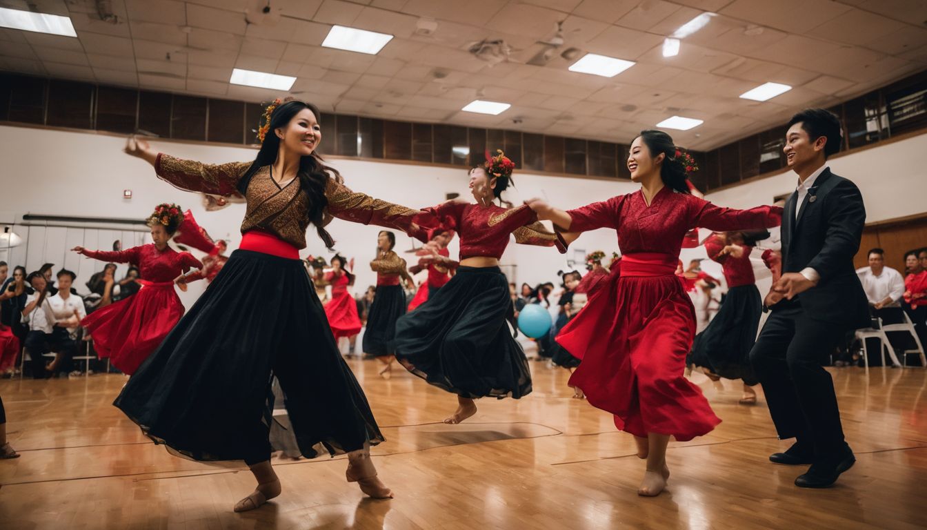
[[[552,247],[556,242],[556,236],[540,224],[538,215],[527,205],[506,210],[495,204],[480,206],[449,200],[423,212],[435,214],[444,227],[460,235],[462,260],[474,256],[501,258],[509,234],[514,234],[516,243],[527,245]]]

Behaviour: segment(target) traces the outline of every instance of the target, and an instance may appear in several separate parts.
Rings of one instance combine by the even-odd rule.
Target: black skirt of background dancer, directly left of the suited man
[[[750,350],[763,310],[756,285],[732,287],[717,315],[695,336],[689,364],[708,368],[725,379],[759,382],[750,364]]]

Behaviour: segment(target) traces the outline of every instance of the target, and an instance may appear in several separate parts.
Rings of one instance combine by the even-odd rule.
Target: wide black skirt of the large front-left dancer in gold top
[[[274,378],[284,417],[273,414]],[[203,461],[383,441],[305,268],[260,252],[233,252],[114,405],[156,443]]]

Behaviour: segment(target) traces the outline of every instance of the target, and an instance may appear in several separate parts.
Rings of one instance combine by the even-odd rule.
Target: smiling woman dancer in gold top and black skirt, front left
[[[275,377],[299,452],[348,453],[347,478],[375,498],[392,497],[376,478],[369,446],[383,441],[363,391],[338,354],[322,304],[298,257],[314,225],[328,248],[329,215],[420,232],[431,215],[352,192],[315,152],[319,111],[274,102],[254,162],[184,161],[131,138],[126,152],[189,191],[248,202],[243,238],[197,303],[135,372],[116,407],[157,443],[197,460],[245,460],[258,485],[235,511],[280,495],[271,467],[267,401]],[[437,222],[433,223],[437,226]]]

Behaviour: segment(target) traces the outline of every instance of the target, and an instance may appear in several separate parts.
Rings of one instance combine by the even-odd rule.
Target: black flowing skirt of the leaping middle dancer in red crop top
[[[439,296],[399,319],[396,356],[448,392],[517,399],[530,394],[531,372],[508,327],[512,312],[499,267],[462,266]]]

